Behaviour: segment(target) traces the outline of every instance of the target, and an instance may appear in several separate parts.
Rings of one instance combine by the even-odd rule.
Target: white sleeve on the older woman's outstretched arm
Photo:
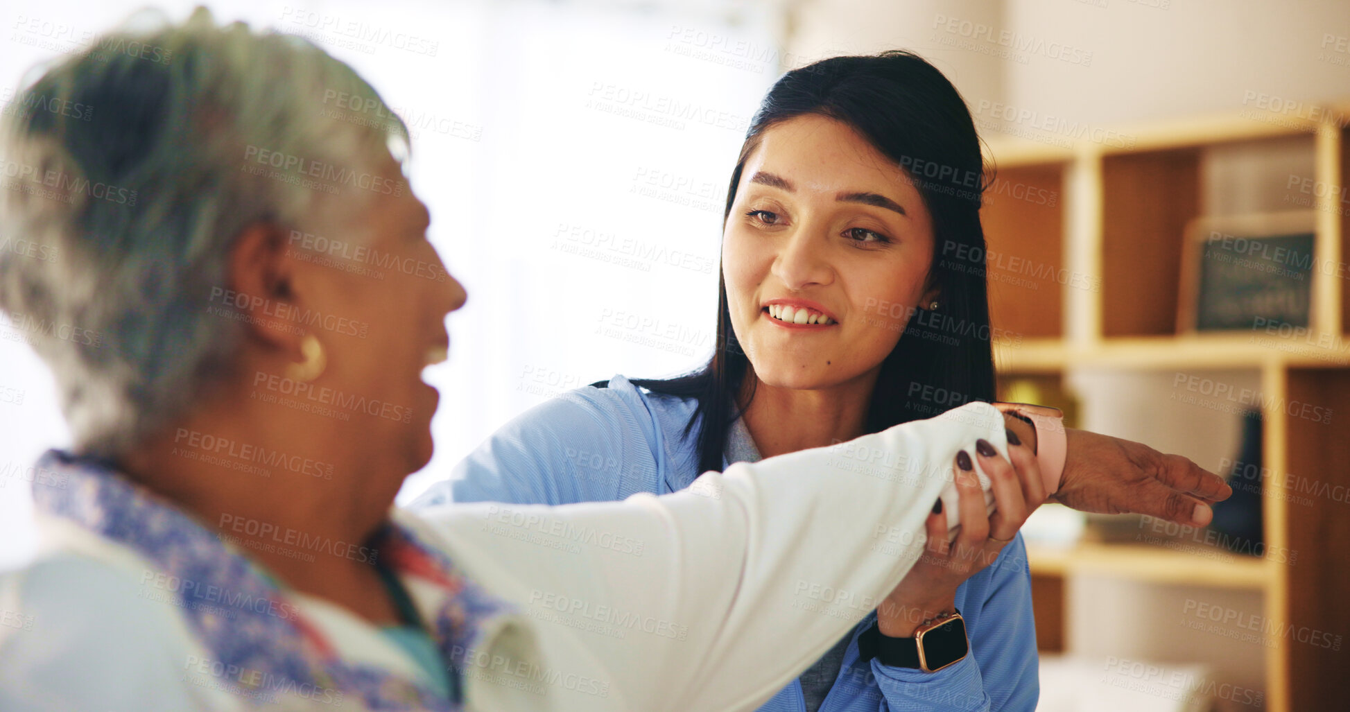
[[[533,619],[541,659],[514,674],[529,670],[554,707],[753,709],[899,584],[956,453],[977,438],[1006,455],[1003,417],[984,403],[663,497],[418,515],[471,578]],[[475,686],[513,684],[466,677],[470,708]]]

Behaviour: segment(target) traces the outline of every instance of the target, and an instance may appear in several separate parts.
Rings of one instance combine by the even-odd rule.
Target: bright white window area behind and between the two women
[[[173,19],[196,1],[162,1]],[[784,69],[772,7],[647,3],[208,3],[217,20],[306,34],[413,130],[413,189],[468,289],[448,320],[436,455],[416,494],[493,430],[616,373],[688,370],[711,353],[726,181]],[[78,50],[123,18],[103,3],[15,16],[0,66]],[[0,77],[9,99],[19,76]],[[26,469],[69,435],[46,367],[0,324],[0,565],[32,543]]]

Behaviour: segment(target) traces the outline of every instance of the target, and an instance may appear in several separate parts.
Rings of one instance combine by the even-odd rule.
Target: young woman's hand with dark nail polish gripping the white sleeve
[[[999,457],[988,442],[976,442],[973,457],[979,458],[980,469],[994,485],[992,515],[986,507],[972,454],[964,450],[957,454],[953,472],[961,513],[960,530],[956,539],[948,542],[946,516],[942,515],[940,500],[927,517],[927,543],[918,563],[876,608],[882,635],[907,638],[922,623],[952,612],[956,588],[994,563],[1026,517],[1045,501],[1041,469],[1026,444],[1026,436],[1030,435],[1017,434],[1021,426],[1025,424],[1018,422],[1008,426],[1011,463]]]

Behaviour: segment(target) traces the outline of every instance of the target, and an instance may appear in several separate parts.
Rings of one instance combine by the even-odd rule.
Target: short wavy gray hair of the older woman
[[[259,151],[374,168],[408,142],[374,88],[305,39],[205,8],[132,30],[142,19],[15,97],[0,154],[0,238],[30,246],[0,253],[0,309],[51,367],[76,449],[101,457],[235,374],[244,327],[208,307],[244,227],[342,224],[306,181],[250,172]],[[359,111],[335,120],[335,96]]]

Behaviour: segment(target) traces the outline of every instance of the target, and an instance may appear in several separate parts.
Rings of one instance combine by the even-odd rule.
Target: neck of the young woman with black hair
[[[755,397],[744,407],[742,417],[755,447],[770,458],[863,435],[876,377],[873,370],[829,388],[796,389],[768,385],[749,369],[740,403],[753,385]]]

